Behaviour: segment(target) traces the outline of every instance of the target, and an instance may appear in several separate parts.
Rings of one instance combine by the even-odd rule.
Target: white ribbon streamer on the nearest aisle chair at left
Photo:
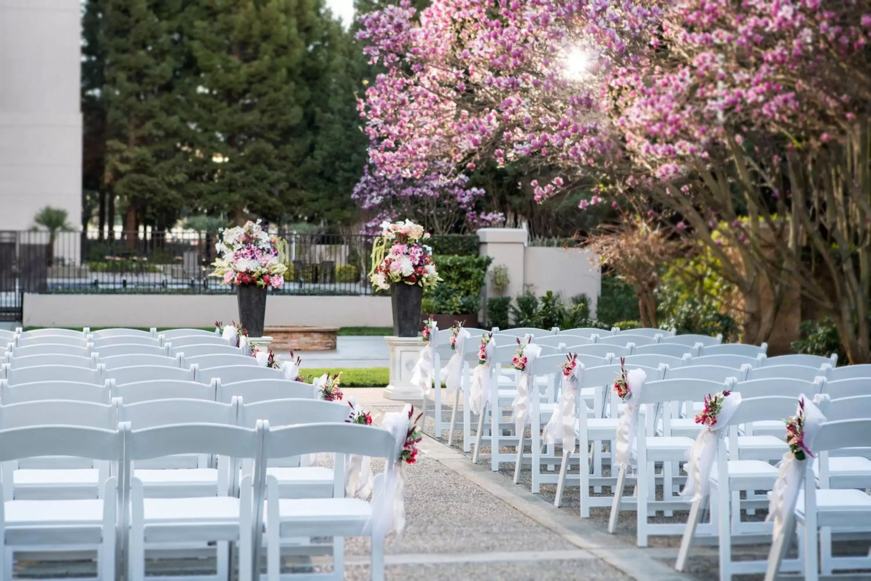
[[[405,528],[405,463],[399,459],[405,437],[408,436],[408,414],[410,406],[405,406],[402,413],[390,412],[384,414],[381,428],[387,429],[395,438],[394,470],[388,470],[384,489],[377,495],[372,513],[372,529],[379,534],[387,535],[391,530],[397,533]],[[388,459],[389,462],[389,459]]]

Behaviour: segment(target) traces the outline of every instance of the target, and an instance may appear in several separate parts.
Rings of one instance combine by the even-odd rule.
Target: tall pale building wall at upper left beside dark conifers
[[[79,0],[0,0],[0,230],[43,206],[81,223]]]

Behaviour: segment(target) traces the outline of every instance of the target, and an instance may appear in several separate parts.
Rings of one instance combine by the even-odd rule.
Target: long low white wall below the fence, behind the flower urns
[[[235,294],[25,294],[24,327],[208,327],[239,319]],[[390,297],[270,296],[267,327],[390,327]]]

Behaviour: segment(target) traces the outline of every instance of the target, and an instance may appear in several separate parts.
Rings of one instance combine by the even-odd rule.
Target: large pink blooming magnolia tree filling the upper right
[[[841,0],[436,0],[361,18],[387,67],[361,114],[379,170],[558,168],[706,244],[764,338],[802,292],[871,360],[871,12]],[[807,260],[810,257],[812,260]],[[755,311],[755,312],[753,312]]]

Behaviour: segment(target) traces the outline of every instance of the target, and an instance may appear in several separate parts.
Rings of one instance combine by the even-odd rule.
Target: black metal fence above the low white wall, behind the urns
[[[373,237],[279,233],[287,240],[285,284],[275,294],[371,294]],[[214,233],[0,232],[0,320],[20,320],[24,293],[219,294],[208,276]]]

